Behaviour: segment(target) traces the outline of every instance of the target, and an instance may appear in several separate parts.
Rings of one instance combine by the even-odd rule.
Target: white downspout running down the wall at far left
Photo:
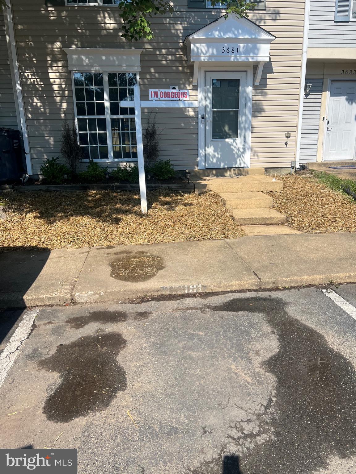
[[[17,99],[17,110],[19,112],[19,119],[21,124],[21,132],[22,132],[22,139],[25,148],[25,155],[26,155],[26,165],[27,165],[27,173],[32,174],[32,161],[31,161],[31,153],[30,153],[30,146],[28,140],[28,130],[27,130],[27,123],[26,123],[26,114],[25,114],[25,107],[24,107],[24,100],[22,95],[22,87],[21,87],[21,78],[19,73],[19,62],[17,58],[17,51],[16,51],[16,41],[15,41],[15,30],[14,30],[14,23],[12,18],[12,9],[11,9],[11,0],[6,0],[6,7],[3,7],[5,20],[7,24],[7,31],[6,31],[6,41],[8,43],[9,49],[9,61],[11,62],[11,78],[13,81],[14,91],[16,93],[15,100]]]

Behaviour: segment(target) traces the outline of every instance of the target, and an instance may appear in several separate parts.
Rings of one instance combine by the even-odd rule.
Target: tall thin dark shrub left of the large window
[[[61,154],[68,164],[72,175],[75,175],[78,163],[83,159],[83,149],[79,146],[78,132],[75,125],[73,114],[72,121],[69,122],[66,112],[64,113],[62,138],[61,138]]]

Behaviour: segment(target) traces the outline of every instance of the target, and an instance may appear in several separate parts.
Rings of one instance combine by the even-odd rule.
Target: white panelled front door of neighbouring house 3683
[[[356,82],[331,81],[325,160],[353,160],[356,142]]]

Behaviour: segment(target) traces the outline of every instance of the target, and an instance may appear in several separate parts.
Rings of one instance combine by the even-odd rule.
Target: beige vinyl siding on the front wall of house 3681
[[[64,47],[143,48],[142,100],[150,88],[178,85],[190,90],[193,66],[187,64],[184,38],[222,16],[222,10],[188,9],[187,0],[174,2],[175,12],[152,18],[155,38],[127,43],[120,37],[121,19],[115,7],[48,7],[41,0],[13,0],[20,73],[28,121],[34,173],[46,157],[59,154],[61,114],[73,109],[70,73]],[[289,166],[295,153],[304,1],[267,0],[266,11],[250,18],[277,36],[272,62],[253,90],[252,166]],[[143,124],[150,110],[144,110]],[[176,169],[197,167],[197,110],[152,109],[162,131],[161,158]],[[291,132],[286,147],[285,132]],[[110,167],[116,167],[113,162]]]

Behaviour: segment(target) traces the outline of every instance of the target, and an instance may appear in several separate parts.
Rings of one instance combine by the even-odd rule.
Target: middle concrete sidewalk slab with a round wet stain
[[[74,301],[257,289],[259,280],[224,240],[93,247]]]

